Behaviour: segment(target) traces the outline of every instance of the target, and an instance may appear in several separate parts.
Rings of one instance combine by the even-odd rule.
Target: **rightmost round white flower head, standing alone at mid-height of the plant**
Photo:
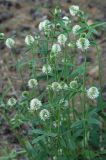
[[[95,99],[99,96],[99,91],[96,87],[91,87],[87,90],[87,96],[90,99]]]

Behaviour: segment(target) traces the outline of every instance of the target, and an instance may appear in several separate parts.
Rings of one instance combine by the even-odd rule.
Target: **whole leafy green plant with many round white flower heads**
[[[10,97],[7,102],[6,96],[1,98],[3,116],[18,139],[23,155],[29,160],[94,160],[105,152],[101,132],[106,130],[101,129],[105,108],[101,78],[99,84],[87,87],[90,47],[96,49],[100,60],[93,36],[100,24],[89,25],[79,6],[70,6],[69,12],[77,18],[74,26],[72,18],[61,18],[61,9],[55,9],[52,20],[40,22],[39,36],[25,37],[25,56],[29,56],[27,52],[31,53],[31,59],[26,63],[17,60],[16,68],[20,73],[27,68],[29,80],[19,96]],[[15,41],[1,35],[13,51]],[[78,66],[79,51],[84,62]],[[100,69],[99,63],[101,77]],[[23,82],[23,76],[21,78]],[[13,112],[11,116],[10,111]],[[27,125],[25,134],[24,125]],[[94,127],[100,131],[98,139],[96,136],[96,150]]]

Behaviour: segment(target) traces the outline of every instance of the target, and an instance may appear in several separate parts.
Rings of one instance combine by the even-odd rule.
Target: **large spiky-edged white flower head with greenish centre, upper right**
[[[86,50],[90,46],[90,42],[87,38],[80,38],[77,40],[76,45],[81,50]]]

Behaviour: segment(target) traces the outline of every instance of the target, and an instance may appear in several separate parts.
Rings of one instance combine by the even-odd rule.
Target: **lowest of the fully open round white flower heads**
[[[41,120],[45,121],[50,118],[50,112],[47,109],[42,109],[39,113]]]

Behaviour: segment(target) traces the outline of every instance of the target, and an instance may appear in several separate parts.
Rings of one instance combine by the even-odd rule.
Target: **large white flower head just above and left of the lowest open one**
[[[30,101],[30,111],[37,111],[38,109],[40,109],[40,107],[42,106],[42,103],[39,99],[34,98]]]

